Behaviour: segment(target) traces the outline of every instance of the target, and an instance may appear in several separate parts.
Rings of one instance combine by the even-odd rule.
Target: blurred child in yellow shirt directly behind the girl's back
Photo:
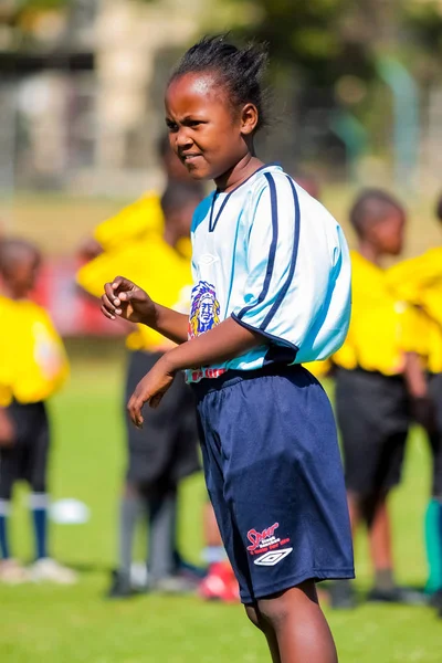
[[[350,211],[358,238],[351,252],[352,312],[347,340],[334,355],[352,533],[367,524],[375,586],[369,600],[415,599],[393,576],[388,495],[400,481],[410,407],[404,372],[409,312],[387,284],[385,256],[399,255],[406,212],[381,190],[364,191]],[[354,602],[349,583],[333,589],[335,607]]]

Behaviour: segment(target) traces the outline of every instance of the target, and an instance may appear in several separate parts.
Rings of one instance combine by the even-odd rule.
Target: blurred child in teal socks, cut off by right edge
[[[436,215],[442,221],[442,198]],[[420,347],[410,360],[417,376],[415,396],[423,411],[421,423],[429,435],[433,461],[432,496],[425,516],[427,591],[442,614],[442,246],[399,263],[387,276],[398,295],[420,313],[421,329],[417,335]]]

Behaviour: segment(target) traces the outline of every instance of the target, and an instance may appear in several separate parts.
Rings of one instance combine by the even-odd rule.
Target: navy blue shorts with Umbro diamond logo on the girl
[[[243,603],[304,580],[354,578],[336,427],[301,366],[193,385],[206,482]]]

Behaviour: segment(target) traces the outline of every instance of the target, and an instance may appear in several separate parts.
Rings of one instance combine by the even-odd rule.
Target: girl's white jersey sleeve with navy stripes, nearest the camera
[[[293,288],[299,242],[299,204],[292,180],[264,173],[252,197],[246,219],[248,278],[242,303],[232,317],[243,326],[284,343],[276,320],[288,288]],[[292,345],[288,343],[288,345]]]

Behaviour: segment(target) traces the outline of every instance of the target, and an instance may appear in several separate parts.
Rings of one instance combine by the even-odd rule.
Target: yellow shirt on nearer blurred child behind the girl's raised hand
[[[146,290],[155,302],[182,313],[189,311],[191,292],[190,263],[175,251],[158,233],[102,253],[77,273],[77,283],[90,294],[99,297],[106,282],[117,274],[126,276]],[[165,345],[165,338],[137,325],[127,338],[131,350],[152,350]]]

